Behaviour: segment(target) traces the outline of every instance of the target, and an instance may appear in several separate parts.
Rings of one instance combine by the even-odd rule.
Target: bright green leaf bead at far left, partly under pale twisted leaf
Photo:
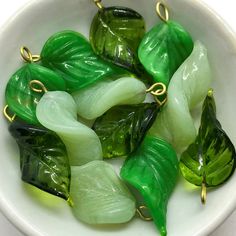
[[[6,91],[6,103],[13,113],[30,124],[38,124],[36,106],[42,94],[34,92],[29,83],[32,80],[41,81],[48,90],[65,90],[63,78],[37,64],[26,64],[9,80]]]

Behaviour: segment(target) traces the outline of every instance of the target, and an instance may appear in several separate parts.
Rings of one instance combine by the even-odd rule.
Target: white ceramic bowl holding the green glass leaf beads
[[[153,0],[104,0],[103,4],[131,7],[140,12],[148,28],[159,21]],[[200,1],[168,0],[170,16],[207,46],[214,72],[214,89],[218,118],[236,144],[236,45],[235,37],[224,22]],[[74,29],[88,36],[90,22],[97,9],[92,0],[34,0],[19,11],[0,34],[0,105],[4,106],[4,89],[10,75],[21,66],[19,48],[27,45],[40,53],[53,33]],[[31,236],[106,236],[157,235],[152,223],[134,219],[117,227],[93,228],[82,224],[71,214],[66,202],[29,187],[20,180],[19,154],[0,118],[0,208],[25,234]],[[187,190],[180,180],[168,206],[170,236],[207,235],[214,230],[236,205],[236,175],[226,184],[208,193],[207,205],[199,201],[199,190]]]

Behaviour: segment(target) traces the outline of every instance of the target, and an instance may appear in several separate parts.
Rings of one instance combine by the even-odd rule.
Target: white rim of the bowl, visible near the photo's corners
[[[189,0],[182,0],[185,4],[190,4]],[[8,20],[6,20],[0,28],[0,41],[4,34],[4,31],[7,30],[8,27],[13,26],[18,18],[22,17],[25,12],[33,10],[36,8],[38,4],[47,4],[45,0],[29,0],[26,4],[24,4],[21,8],[19,8]],[[191,4],[204,12],[206,15],[212,18],[212,20],[222,28],[222,33],[226,38],[229,39],[231,43],[230,47],[236,53],[236,32],[232,29],[232,27],[214,10],[212,9],[206,2],[203,0],[195,1],[193,0]],[[220,224],[222,224],[235,210],[236,208],[236,198],[234,201],[231,201],[230,204],[225,206],[225,211],[223,214],[218,215],[214,220],[212,220],[208,225],[205,225],[201,231],[197,232],[196,235],[208,235],[212,233]],[[22,219],[15,211],[12,206],[10,206],[7,201],[0,195],[0,212],[15,226],[21,233],[24,235],[31,236],[44,236],[40,233],[40,230],[33,227],[29,222]]]

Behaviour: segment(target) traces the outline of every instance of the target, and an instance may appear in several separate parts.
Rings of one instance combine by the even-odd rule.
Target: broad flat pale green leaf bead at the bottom
[[[88,224],[124,223],[136,211],[128,188],[104,161],[72,167],[70,196],[74,215]]]

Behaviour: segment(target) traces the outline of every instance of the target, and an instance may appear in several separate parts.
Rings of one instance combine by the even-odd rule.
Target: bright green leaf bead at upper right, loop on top
[[[189,33],[174,21],[157,24],[144,36],[139,60],[155,82],[168,86],[178,67],[193,50]]]

